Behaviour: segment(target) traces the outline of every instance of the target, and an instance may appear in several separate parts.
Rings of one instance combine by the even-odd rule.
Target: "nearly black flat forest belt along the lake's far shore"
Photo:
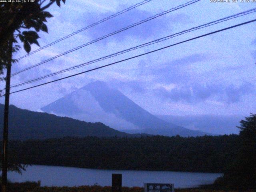
[[[56,138],[9,142],[10,160],[98,169],[224,172],[239,148],[238,135],[141,138]],[[15,155],[13,155],[15,154]]]

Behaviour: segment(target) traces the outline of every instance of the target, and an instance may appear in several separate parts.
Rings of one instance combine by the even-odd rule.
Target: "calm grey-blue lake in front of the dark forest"
[[[32,165],[22,175],[8,172],[12,182],[41,180],[41,186],[111,186],[112,173],[122,174],[122,186],[144,186],[144,183],[174,183],[175,188],[211,184],[222,174],[172,171],[99,170],[61,166]]]

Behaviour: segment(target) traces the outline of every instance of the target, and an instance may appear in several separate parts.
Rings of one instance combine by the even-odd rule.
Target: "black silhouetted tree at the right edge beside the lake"
[[[216,184],[227,188],[256,188],[256,114],[240,121],[239,150],[234,162]]]

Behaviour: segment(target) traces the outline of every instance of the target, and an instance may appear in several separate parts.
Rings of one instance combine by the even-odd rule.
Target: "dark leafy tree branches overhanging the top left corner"
[[[18,39],[26,52],[30,52],[31,44],[38,43],[40,30],[48,32],[46,18],[52,17],[45,11],[54,2],[60,6],[61,0],[34,0],[33,2],[0,2],[0,74],[8,64],[8,52],[19,50]],[[62,0],[65,3],[65,0]],[[32,29],[32,30],[31,30]],[[14,43],[12,50],[10,42]],[[12,63],[15,60],[12,60]]]

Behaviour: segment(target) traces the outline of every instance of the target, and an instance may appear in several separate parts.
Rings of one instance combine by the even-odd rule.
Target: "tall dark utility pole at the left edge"
[[[2,154],[2,192],[6,192],[7,186],[7,144],[8,144],[8,115],[10,98],[10,81],[12,66],[12,36],[8,45],[8,64],[6,72],[5,101],[4,101],[4,132],[3,132],[3,154]]]

